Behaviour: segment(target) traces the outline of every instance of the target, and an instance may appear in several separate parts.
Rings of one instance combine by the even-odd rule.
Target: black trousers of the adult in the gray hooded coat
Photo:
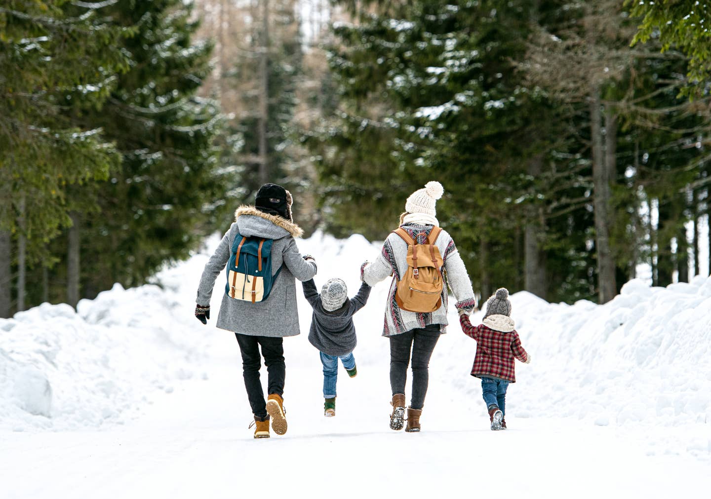
[[[281,397],[284,394],[284,377],[287,375],[287,367],[284,365],[284,338],[247,336],[237,333],[235,336],[242,353],[242,372],[245,376],[245,388],[247,388],[252,413],[255,414],[255,418],[263,420],[267,417],[267,402],[264,401],[264,391],[260,381],[262,356],[264,365],[267,366],[268,395],[276,393]],[[260,355],[260,346],[262,355]]]

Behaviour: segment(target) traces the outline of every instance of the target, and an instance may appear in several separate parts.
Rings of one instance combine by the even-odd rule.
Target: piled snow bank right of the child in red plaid
[[[533,355],[516,390],[530,416],[711,424],[711,279],[667,288],[633,280],[602,306],[528,293],[512,301]]]

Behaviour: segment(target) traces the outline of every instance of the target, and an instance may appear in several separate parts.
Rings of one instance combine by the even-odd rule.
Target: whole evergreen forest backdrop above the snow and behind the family
[[[371,240],[442,182],[479,296],[708,275],[711,7],[4,0],[0,316],[136,286],[264,182]]]

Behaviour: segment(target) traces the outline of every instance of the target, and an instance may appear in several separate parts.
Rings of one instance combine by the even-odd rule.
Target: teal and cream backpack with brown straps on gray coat
[[[264,301],[272,291],[274,281],[282,272],[279,267],[272,276],[272,243],[260,237],[243,237],[237,233],[227,264],[225,293],[235,300]]]

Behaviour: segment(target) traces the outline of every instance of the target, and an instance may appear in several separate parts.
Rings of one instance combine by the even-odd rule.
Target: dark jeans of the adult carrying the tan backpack
[[[412,350],[412,397],[410,407],[422,409],[429,382],[429,358],[439,339],[439,324],[390,336],[390,387],[392,395],[405,393],[407,365]]]

